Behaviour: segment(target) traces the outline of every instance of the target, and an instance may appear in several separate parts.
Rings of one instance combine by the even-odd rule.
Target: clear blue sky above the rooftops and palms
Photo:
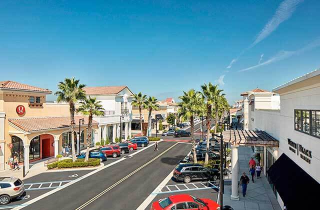
[[[320,67],[319,7],[318,0],[1,0],[0,80],[55,91],[75,76],[158,99],[212,81],[231,102]]]

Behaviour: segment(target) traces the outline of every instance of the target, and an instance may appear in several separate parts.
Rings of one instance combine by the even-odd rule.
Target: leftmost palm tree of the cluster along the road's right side
[[[178,115],[182,117],[183,120],[190,120],[190,131],[191,131],[191,143],[192,143],[192,153],[193,162],[197,163],[196,153],[195,153],[195,141],[194,141],[194,115],[199,113],[201,107],[201,93],[190,89],[189,91],[183,91],[183,95],[179,96],[181,102],[178,103]]]

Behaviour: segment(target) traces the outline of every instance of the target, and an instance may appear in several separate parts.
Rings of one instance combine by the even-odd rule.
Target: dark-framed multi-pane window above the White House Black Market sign
[[[320,138],[320,110],[294,110],[294,129]]]

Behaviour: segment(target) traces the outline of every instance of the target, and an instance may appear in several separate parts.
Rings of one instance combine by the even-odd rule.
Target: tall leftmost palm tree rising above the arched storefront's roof
[[[74,103],[78,100],[85,99],[85,91],[83,87],[85,84],[79,84],[78,79],[65,78],[64,81],[59,81],[58,83],[58,91],[54,94],[57,95],[57,102],[67,102],[69,104],[70,111],[70,127],[71,127],[71,149],[72,149],[72,161],[75,161],[75,147],[74,147],[74,112],[75,106]]]

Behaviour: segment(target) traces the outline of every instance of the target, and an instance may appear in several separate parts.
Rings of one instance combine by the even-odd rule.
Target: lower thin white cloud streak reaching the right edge
[[[285,50],[282,50],[282,51],[279,51],[278,53],[276,53],[273,57],[269,58],[268,60],[264,61],[264,62],[260,62],[258,63],[257,65],[253,65],[253,66],[250,66],[250,67],[247,67],[247,68],[243,68],[239,71],[247,71],[247,70],[250,70],[250,69],[253,69],[253,68],[257,68],[259,66],[262,66],[262,65],[267,65],[267,64],[270,64],[272,62],[276,62],[278,60],[283,60],[283,59],[286,59],[288,57],[291,57],[292,55],[296,55],[296,54],[300,54],[304,51],[307,51],[307,50],[311,50],[315,47],[318,47],[320,46],[320,37],[318,37],[317,39],[315,39],[314,41],[312,41],[311,43],[307,44],[306,46],[300,48],[300,49],[297,49],[295,51],[285,51]]]

